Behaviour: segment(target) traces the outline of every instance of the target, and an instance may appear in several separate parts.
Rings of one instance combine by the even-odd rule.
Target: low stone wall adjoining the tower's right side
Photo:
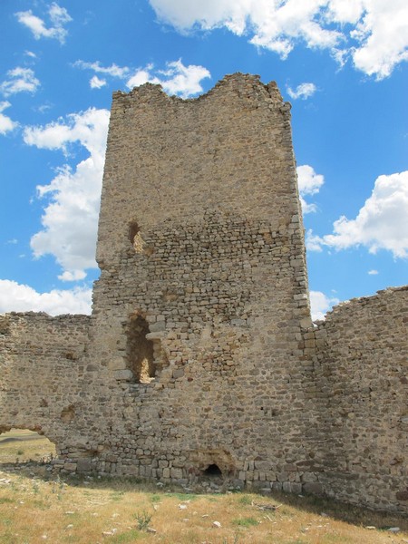
[[[325,491],[372,508],[408,510],[408,287],[336,306],[316,330],[327,394]]]

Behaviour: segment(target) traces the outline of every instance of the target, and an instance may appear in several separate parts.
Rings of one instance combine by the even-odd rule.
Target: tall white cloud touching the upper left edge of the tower
[[[87,159],[74,168],[63,165],[48,185],[37,186],[45,200],[43,230],[31,238],[35,257],[52,254],[63,267],[60,277],[76,281],[86,268],[96,267],[95,248],[102,188],[103,163],[109,112],[90,108],[73,113],[65,121],[45,127],[29,127],[24,141],[49,150],[68,151],[79,142],[88,152]]]

